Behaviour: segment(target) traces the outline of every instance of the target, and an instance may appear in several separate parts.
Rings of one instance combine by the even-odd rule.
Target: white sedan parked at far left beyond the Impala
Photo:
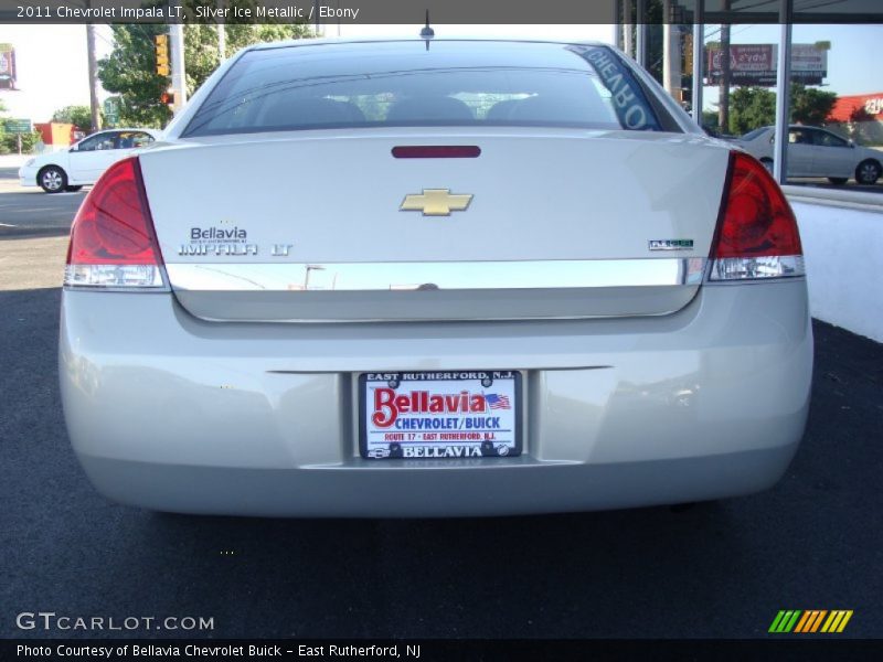
[[[108,129],[87,136],[67,149],[40,154],[19,169],[22,186],[46,193],[78,191],[94,184],[113,163],[131,156],[160,137],[156,129]]]

